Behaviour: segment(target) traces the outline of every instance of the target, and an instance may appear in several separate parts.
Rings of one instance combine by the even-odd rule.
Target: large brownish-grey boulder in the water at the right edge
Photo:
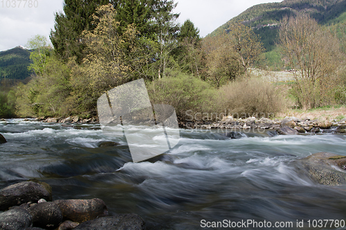
[[[320,184],[346,184],[346,157],[334,153],[315,153],[295,162],[300,172]]]

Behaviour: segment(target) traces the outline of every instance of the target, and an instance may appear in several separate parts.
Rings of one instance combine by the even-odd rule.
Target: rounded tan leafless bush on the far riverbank
[[[238,79],[219,89],[220,109],[233,117],[273,117],[287,107],[286,99],[269,82]]]

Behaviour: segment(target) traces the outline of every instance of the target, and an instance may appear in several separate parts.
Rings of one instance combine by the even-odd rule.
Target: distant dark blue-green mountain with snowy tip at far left
[[[30,61],[30,50],[23,46],[17,46],[10,50],[0,52],[0,80],[8,79],[26,79],[30,77],[28,70]]]

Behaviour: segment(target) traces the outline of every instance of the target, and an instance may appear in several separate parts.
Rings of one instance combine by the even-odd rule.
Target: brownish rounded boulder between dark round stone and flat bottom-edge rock
[[[84,222],[108,215],[106,204],[98,198],[91,200],[55,200],[53,203],[60,207],[64,218],[75,222]]]

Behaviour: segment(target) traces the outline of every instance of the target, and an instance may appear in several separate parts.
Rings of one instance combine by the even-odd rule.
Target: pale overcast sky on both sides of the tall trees
[[[190,19],[199,28],[201,37],[205,37],[247,8],[273,1],[275,0],[175,0],[178,6],[174,12],[181,13],[179,23]],[[44,35],[49,39],[49,33],[55,23],[54,14],[62,11],[63,2],[63,0],[0,1],[0,51],[25,46],[28,39],[35,35]]]

